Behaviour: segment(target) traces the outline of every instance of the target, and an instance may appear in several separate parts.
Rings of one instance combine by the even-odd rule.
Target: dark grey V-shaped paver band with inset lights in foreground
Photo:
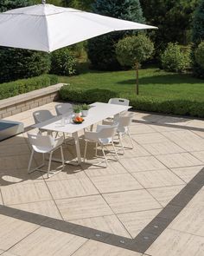
[[[61,232],[72,233],[86,239],[97,240],[112,246],[119,246],[137,253],[144,253],[203,186],[204,167],[185,187],[182,188],[181,192],[175,195],[173,200],[171,200],[169,204],[143,228],[135,239],[125,238],[112,233],[105,233],[64,220],[57,220],[40,214],[29,213],[2,205],[0,205],[0,214],[35,223],[40,226],[46,226]]]

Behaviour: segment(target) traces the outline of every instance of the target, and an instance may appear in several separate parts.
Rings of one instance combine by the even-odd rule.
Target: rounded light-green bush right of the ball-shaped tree
[[[177,43],[169,43],[161,56],[163,69],[184,72],[191,66],[190,49],[182,49]]]

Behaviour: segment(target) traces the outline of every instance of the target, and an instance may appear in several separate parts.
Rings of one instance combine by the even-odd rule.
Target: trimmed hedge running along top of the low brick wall
[[[3,82],[0,84],[0,100],[21,95],[35,89],[45,88],[57,82],[57,75],[41,75],[15,82]]]

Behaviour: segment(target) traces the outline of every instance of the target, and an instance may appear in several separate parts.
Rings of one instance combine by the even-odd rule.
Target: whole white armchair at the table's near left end
[[[28,173],[32,173],[36,170],[41,171],[41,172],[47,172],[48,173],[48,178],[50,177],[49,174],[57,174],[61,171],[50,173],[50,168],[51,168],[51,161],[52,161],[52,155],[55,150],[61,149],[61,163],[62,163],[62,169],[64,169],[64,155],[63,155],[63,149],[62,149],[62,143],[64,141],[63,137],[60,138],[53,138],[51,135],[29,135],[29,143],[32,146],[32,153],[30,155],[29,159],[29,167],[28,167]],[[33,161],[34,153],[41,153],[42,154],[42,164],[39,167],[35,167],[34,169],[31,168],[31,164]],[[48,170],[42,170],[41,167],[45,165],[45,154],[49,154],[49,159],[48,159]]]

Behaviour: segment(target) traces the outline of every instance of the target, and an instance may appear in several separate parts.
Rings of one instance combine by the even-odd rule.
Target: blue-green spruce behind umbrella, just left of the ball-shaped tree
[[[139,0],[96,0],[93,12],[133,22],[144,23],[143,11]],[[120,69],[115,54],[115,45],[124,36],[132,35],[133,31],[112,32],[88,41],[88,57],[94,69]]]

